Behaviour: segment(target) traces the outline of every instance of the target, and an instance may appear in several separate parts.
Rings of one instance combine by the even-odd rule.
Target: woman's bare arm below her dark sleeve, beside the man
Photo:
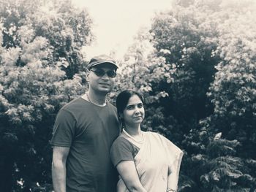
[[[134,161],[121,161],[116,169],[130,192],[146,192],[140,183]]]

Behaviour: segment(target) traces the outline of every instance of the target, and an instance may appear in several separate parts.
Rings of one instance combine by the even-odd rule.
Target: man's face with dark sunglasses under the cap
[[[116,69],[110,64],[100,64],[89,70],[90,88],[96,92],[109,93],[113,89]]]

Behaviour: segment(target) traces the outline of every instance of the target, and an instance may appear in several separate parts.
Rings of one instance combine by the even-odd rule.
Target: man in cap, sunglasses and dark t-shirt
[[[53,128],[52,177],[55,192],[113,192],[118,174],[110,147],[118,137],[116,107],[106,101],[118,66],[107,55],[88,65],[89,91],[61,108]]]

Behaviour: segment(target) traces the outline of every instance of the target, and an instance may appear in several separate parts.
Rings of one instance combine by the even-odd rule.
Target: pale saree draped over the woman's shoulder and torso
[[[148,192],[165,192],[168,182],[177,189],[183,152],[160,134],[150,131],[143,134],[144,142],[134,158],[140,183]],[[124,134],[123,136],[136,145],[133,139]],[[168,172],[173,174],[172,181],[168,181]],[[121,177],[117,184],[117,191],[129,192]]]

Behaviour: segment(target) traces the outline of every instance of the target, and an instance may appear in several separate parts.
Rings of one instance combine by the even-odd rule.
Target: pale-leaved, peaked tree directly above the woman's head
[[[160,91],[151,96],[151,82],[159,83],[162,79],[171,82],[170,73],[172,73],[165,64],[165,58],[154,55],[153,47],[149,42],[151,38],[148,31],[141,29],[138,37],[135,37],[134,44],[124,56],[124,61],[120,61],[121,68],[118,69],[116,80],[116,91],[136,89],[146,94],[147,103],[166,96]]]

